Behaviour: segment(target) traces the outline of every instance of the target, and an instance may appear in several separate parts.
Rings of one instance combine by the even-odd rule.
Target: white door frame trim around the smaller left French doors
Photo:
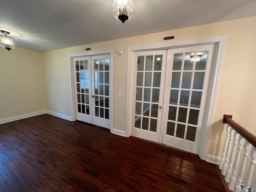
[[[72,121],[76,120],[76,90],[74,87],[74,67],[73,67],[73,58],[75,57],[85,57],[85,56],[97,56],[110,54],[110,64],[109,64],[109,121],[110,121],[110,132],[113,131],[114,126],[114,49],[108,50],[99,50],[92,52],[83,52],[68,54],[68,73],[69,73],[69,88],[70,88],[70,104],[71,104],[71,119]]]

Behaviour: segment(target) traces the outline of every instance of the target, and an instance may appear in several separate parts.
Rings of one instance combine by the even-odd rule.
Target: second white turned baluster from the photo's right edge
[[[247,156],[249,155],[250,150],[252,149],[252,144],[250,144],[248,141],[245,141],[244,143],[244,156],[243,160],[239,169],[238,177],[236,179],[236,185],[234,188],[234,192],[241,192],[241,185],[242,185],[242,180],[244,177],[244,171],[245,171],[245,166],[246,166],[246,159]]]

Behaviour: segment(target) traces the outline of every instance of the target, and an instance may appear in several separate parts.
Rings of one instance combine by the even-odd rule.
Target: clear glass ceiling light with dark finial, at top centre
[[[132,0],[115,0],[112,5],[113,15],[122,23],[130,20],[134,15],[134,5]]]

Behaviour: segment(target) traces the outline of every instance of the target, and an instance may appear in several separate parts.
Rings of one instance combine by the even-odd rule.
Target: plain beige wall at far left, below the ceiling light
[[[42,53],[0,48],[0,119],[46,110]]]

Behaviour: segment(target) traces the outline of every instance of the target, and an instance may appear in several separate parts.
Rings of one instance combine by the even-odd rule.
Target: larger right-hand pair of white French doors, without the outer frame
[[[162,71],[159,71],[161,74],[161,85],[159,86],[159,93],[157,96],[155,95],[158,98],[158,102],[156,103],[158,105],[158,115],[154,117],[154,119],[156,119],[154,138],[149,136],[153,134],[150,128],[155,125],[154,123],[151,124],[152,114],[146,113],[146,116],[143,114],[144,110],[146,110],[146,107],[143,107],[143,99],[146,95],[143,92],[142,97],[140,97],[140,94],[138,97],[138,93],[140,93],[138,88],[142,88],[142,91],[148,88],[145,86],[146,73],[148,71],[146,70],[146,66],[144,66],[143,71],[140,71],[142,66],[139,66],[139,60],[147,60],[147,57],[150,55],[154,57],[155,63],[157,61],[155,59],[158,58],[156,55],[159,54],[159,51],[136,53],[135,58],[138,61],[136,63],[136,100],[132,135],[164,143],[168,146],[195,154],[199,153],[198,145],[201,141],[203,128],[202,118],[204,114],[207,113],[205,111],[205,102],[213,49],[214,45],[205,45],[162,51],[163,58],[166,58],[166,55],[168,55],[168,61],[166,62],[165,59],[162,59]],[[144,61],[144,65],[146,65],[146,62],[147,61]],[[142,72],[142,79],[144,81],[142,82],[142,87],[140,87],[138,84],[141,82],[140,76],[142,76]],[[152,76],[152,81],[153,80]],[[154,86],[150,87],[152,90],[154,88]],[[150,94],[153,96],[153,91],[151,91]],[[142,98],[142,104],[140,104],[138,98]],[[149,110],[154,109],[152,104],[155,103],[152,103],[152,100],[150,100]],[[140,108],[142,108],[142,110],[138,114]],[[143,120],[143,118],[145,118],[145,120]],[[146,118],[150,119],[148,129],[143,129],[145,128],[145,126],[143,127],[143,121],[145,122],[144,124],[146,124]],[[138,122],[140,121],[141,124],[139,126]],[[141,134],[138,134],[138,132]]]

